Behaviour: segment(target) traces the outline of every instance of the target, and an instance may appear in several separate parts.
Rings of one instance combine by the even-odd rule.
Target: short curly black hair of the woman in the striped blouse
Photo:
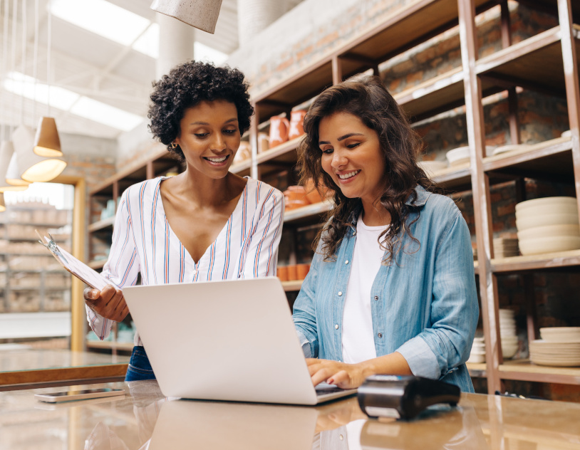
[[[181,160],[183,152],[179,146],[169,147],[180,135],[180,121],[185,110],[202,101],[226,100],[236,105],[240,134],[249,129],[254,108],[249,103],[249,84],[244,74],[237,69],[215,67],[212,63],[187,61],[170,70],[152,83],[153,91],[147,117],[151,120],[152,135],[167,145],[167,150]]]

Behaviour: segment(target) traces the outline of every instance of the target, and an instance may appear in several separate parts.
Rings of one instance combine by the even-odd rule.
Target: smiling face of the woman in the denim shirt
[[[321,165],[345,197],[373,204],[383,192],[385,164],[378,134],[356,115],[336,112],[319,124]]]

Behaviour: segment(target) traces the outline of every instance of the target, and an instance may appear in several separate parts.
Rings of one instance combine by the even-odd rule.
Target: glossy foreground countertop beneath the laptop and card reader
[[[356,397],[295,407],[169,399],[155,381],[86,387],[125,396],[45,404],[33,395],[66,388],[0,392],[0,449],[580,449],[574,403],[462,394],[458,407],[379,422]]]

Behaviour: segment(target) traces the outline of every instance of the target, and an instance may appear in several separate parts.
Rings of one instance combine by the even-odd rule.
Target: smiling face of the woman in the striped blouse
[[[185,110],[175,143],[181,147],[188,170],[217,179],[227,175],[240,139],[236,105],[214,100]]]

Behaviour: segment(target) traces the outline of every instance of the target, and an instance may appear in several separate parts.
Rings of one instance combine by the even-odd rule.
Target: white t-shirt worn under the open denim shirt
[[[378,244],[378,236],[385,226],[367,226],[363,217],[356,224],[356,243],[353,260],[349,261],[343,309],[342,355],[343,361],[355,364],[377,357],[371,315],[371,288],[380,268],[385,251]]]

